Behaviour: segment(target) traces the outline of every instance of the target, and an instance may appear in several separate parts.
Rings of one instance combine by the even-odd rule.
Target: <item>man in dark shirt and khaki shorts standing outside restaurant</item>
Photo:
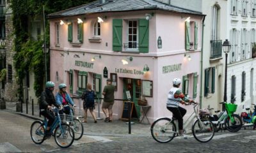
[[[104,101],[102,103],[102,111],[104,112],[106,118],[105,122],[112,122],[113,120],[113,111],[112,107],[114,105],[114,92],[115,86],[112,85],[110,78],[107,79],[107,85],[105,85],[102,94],[104,95]]]

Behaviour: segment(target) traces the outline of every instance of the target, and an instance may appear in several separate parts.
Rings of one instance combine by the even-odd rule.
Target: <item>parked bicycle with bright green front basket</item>
[[[221,102],[220,104],[225,106],[225,110],[222,112],[220,112],[220,110],[215,111],[215,113],[220,112],[219,115],[202,114],[201,117],[212,121],[215,132],[220,131],[220,129],[227,129],[232,133],[239,131],[242,128],[243,123],[241,117],[234,113],[236,112],[237,105],[226,102]]]

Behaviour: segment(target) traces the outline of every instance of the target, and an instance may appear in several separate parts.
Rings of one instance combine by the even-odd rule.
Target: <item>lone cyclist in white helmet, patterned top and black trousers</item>
[[[182,105],[186,105],[187,103],[195,103],[193,100],[188,99],[184,96],[182,91],[179,89],[181,84],[180,78],[174,78],[173,79],[173,87],[170,89],[168,93],[168,99],[167,99],[167,109],[170,110],[170,112],[173,113],[173,117],[175,117],[179,122],[179,135],[182,136],[184,139],[187,139],[188,137],[184,135],[183,133],[183,117],[186,114],[187,110],[180,107],[179,103]]]

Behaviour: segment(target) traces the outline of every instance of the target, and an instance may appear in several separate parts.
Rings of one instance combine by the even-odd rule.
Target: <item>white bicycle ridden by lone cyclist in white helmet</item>
[[[209,119],[200,119],[198,115],[198,103],[193,103],[194,112],[184,122],[184,129],[195,119],[192,126],[192,133],[198,142],[209,142],[214,136],[214,126]],[[151,135],[157,142],[167,143],[178,136],[177,119],[170,119],[168,117],[162,117],[155,120],[150,128]],[[186,133],[186,130],[184,130]]]

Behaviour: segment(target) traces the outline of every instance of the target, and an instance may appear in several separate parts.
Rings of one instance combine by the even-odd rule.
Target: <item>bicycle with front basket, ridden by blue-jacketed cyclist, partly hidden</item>
[[[64,105],[63,107],[67,107],[69,105]],[[66,120],[64,120],[64,116],[61,116],[61,121],[66,121],[69,122],[70,127],[73,128],[74,133],[75,133],[75,140],[79,140],[82,138],[83,134],[84,134],[84,126],[81,122],[81,120],[79,120],[78,117],[74,117],[74,106],[70,107],[70,113],[69,115],[66,115]]]

